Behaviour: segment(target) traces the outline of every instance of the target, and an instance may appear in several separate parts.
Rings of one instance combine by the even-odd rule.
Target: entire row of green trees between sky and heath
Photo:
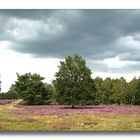
[[[140,105],[140,78],[130,82],[123,77],[93,79],[86,60],[77,54],[60,61],[55,77],[52,84],[48,84],[39,74],[17,73],[17,80],[7,93],[0,93],[0,99],[19,98],[27,104],[61,104],[72,108],[76,105]]]

